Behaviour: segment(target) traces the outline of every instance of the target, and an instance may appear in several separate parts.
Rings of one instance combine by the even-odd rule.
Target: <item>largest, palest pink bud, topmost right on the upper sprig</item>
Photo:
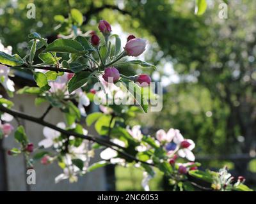
[[[128,56],[138,57],[146,48],[146,41],[141,38],[129,40],[125,45],[125,51]]]

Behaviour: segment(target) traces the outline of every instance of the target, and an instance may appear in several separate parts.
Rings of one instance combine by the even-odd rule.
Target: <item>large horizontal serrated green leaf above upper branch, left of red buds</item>
[[[63,53],[83,53],[84,48],[76,40],[68,40],[68,39],[57,39],[49,44],[45,51],[51,52],[63,52]]]

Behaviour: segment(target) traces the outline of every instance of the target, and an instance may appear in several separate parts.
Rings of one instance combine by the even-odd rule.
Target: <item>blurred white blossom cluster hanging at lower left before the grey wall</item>
[[[57,126],[62,129],[66,128],[64,122],[59,122]],[[75,126],[76,125],[73,124],[73,128],[76,128]],[[40,141],[38,146],[44,147],[44,149],[53,147],[57,152],[65,153],[65,156],[52,156],[52,154],[49,153],[42,157],[41,163],[46,165],[58,160],[59,163],[61,163],[61,168],[63,168],[63,173],[56,177],[55,182],[58,183],[64,179],[69,179],[70,182],[76,182],[78,174],[86,173],[90,157],[93,156],[93,150],[90,150],[89,142],[86,140],[77,142],[74,136],[69,136],[67,140],[67,138],[61,136],[60,132],[47,127],[44,128],[43,134],[45,139]],[[88,131],[83,129],[83,134],[87,135]],[[77,167],[76,161],[82,163],[81,168]]]

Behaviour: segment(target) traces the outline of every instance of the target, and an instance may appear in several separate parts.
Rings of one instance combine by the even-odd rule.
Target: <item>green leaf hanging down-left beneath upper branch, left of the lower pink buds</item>
[[[76,73],[68,82],[68,92],[71,94],[76,89],[79,89],[88,82],[88,77],[90,77],[90,73],[87,71]]]

